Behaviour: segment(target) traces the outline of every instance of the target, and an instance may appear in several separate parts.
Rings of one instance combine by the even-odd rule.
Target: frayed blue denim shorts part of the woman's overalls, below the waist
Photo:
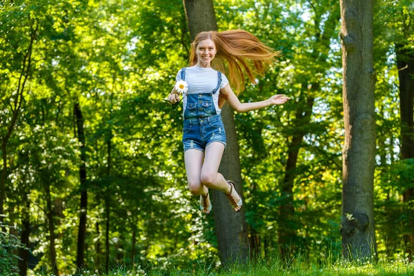
[[[213,142],[224,144],[226,148],[226,132],[224,131],[221,115],[184,119],[184,152],[190,149],[204,152],[206,146]]]

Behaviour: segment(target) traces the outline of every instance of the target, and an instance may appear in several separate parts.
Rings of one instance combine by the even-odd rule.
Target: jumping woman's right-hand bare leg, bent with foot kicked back
[[[208,144],[206,147],[204,164],[201,168],[201,182],[208,188],[221,190],[228,194],[230,193],[231,186],[227,183],[226,179],[224,179],[223,175],[218,172],[223,152],[224,144],[219,142]],[[232,190],[232,195],[236,199],[236,202],[239,201],[240,197],[235,189]],[[240,208],[242,207],[237,206],[234,210],[238,211]]]

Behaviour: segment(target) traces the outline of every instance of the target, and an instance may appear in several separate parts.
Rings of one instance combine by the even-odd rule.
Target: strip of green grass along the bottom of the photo
[[[307,262],[293,261],[286,265],[279,262],[277,259],[269,259],[267,262],[260,261],[255,264],[250,263],[245,266],[233,266],[228,269],[218,269],[210,266],[199,266],[193,270],[177,270],[173,267],[159,268],[140,266],[128,270],[122,266],[116,268],[108,274],[101,274],[98,271],[87,271],[79,274],[82,276],[142,276],[142,275],[209,275],[209,276],[236,276],[236,275],[251,275],[251,276],[273,276],[273,275],[297,275],[297,276],[331,276],[331,275],[414,275],[414,262],[408,262],[408,259],[399,258],[396,261],[379,260],[376,264],[370,262],[344,262],[337,261],[333,264],[315,265]]]

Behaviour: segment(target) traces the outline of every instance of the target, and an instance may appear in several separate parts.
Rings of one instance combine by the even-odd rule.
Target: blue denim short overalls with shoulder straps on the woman
[[[186,68],[181,69],[181,79],[186,80]],[[213,91],[186,95],[182,140],[184,152],[190,149],[204,152],[206,146],[213,142],[226,146],[223,121],[213,102],[213,95],[219,92],[220,83],[221,72],[217,71],[217,86]]]

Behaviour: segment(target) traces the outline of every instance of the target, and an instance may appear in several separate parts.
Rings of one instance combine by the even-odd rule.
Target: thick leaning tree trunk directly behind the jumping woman
[[[217,30],[213,0],[183,0],[191,39],[202,31]],[[221,110],[227,136],[219,172],[226,179],[235,181],[237,193],[243,197],[242,171],[240,169],[239,145],[235,128],[233,110],[225,105]],[[228,266],[234,262],[246,263],[248,260],[248,229],[244,208],[235,213],[224,193],[213,190],[213,209],[217,244],[221,264]]]

